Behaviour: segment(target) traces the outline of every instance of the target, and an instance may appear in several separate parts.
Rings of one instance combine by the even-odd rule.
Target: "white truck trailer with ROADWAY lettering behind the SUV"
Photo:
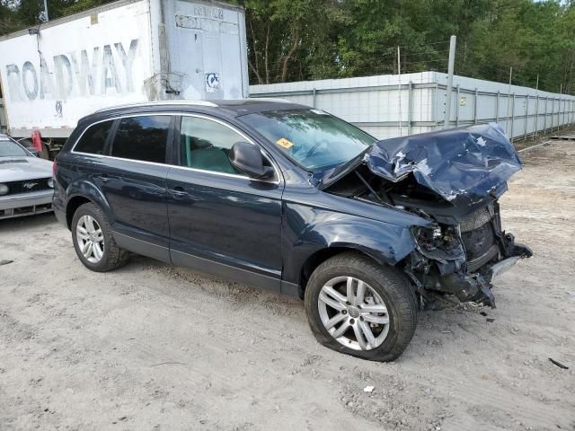
[[[104,107],[247,97],[245,34],[241,6],[120,0],[0,37],[7,131],[54,153]]]

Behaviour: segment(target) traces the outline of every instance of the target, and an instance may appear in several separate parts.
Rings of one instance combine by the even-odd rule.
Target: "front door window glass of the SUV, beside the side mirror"
[[[245,138],[211,119],[182,117],[180,164],[203,171],[237,173],[228,159],[230,149]]]

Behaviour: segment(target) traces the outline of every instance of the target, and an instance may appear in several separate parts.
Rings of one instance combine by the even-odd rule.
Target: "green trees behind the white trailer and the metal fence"
[[[252,84],[447,70],[575,92],[573,0],[232,0],[246,11]],[[49,17],[108,0],[49,0]],[[38,25],[43,0],[0,0],[0,34]]]

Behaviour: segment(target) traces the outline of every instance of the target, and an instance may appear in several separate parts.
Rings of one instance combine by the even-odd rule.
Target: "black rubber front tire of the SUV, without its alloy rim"
[[[383,299],[389,314],[389,331],[384,342],[370,350],[345,347],[325,329],[318,308],[323,286],[334,277],[356,277],[371,286]],[[417,326],[418,303],[409,279],[397,269],[378,265],[366,256],[346,252],[325,260],[305,287],[305,312],[315,338],[325,347],[370,361],[388,362],[401,356]]]

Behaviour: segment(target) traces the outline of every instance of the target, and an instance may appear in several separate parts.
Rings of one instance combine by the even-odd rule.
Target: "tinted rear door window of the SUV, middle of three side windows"
[[[111,155],[143,162],[165,163],[171,117],[155,115],[120,119]]]

